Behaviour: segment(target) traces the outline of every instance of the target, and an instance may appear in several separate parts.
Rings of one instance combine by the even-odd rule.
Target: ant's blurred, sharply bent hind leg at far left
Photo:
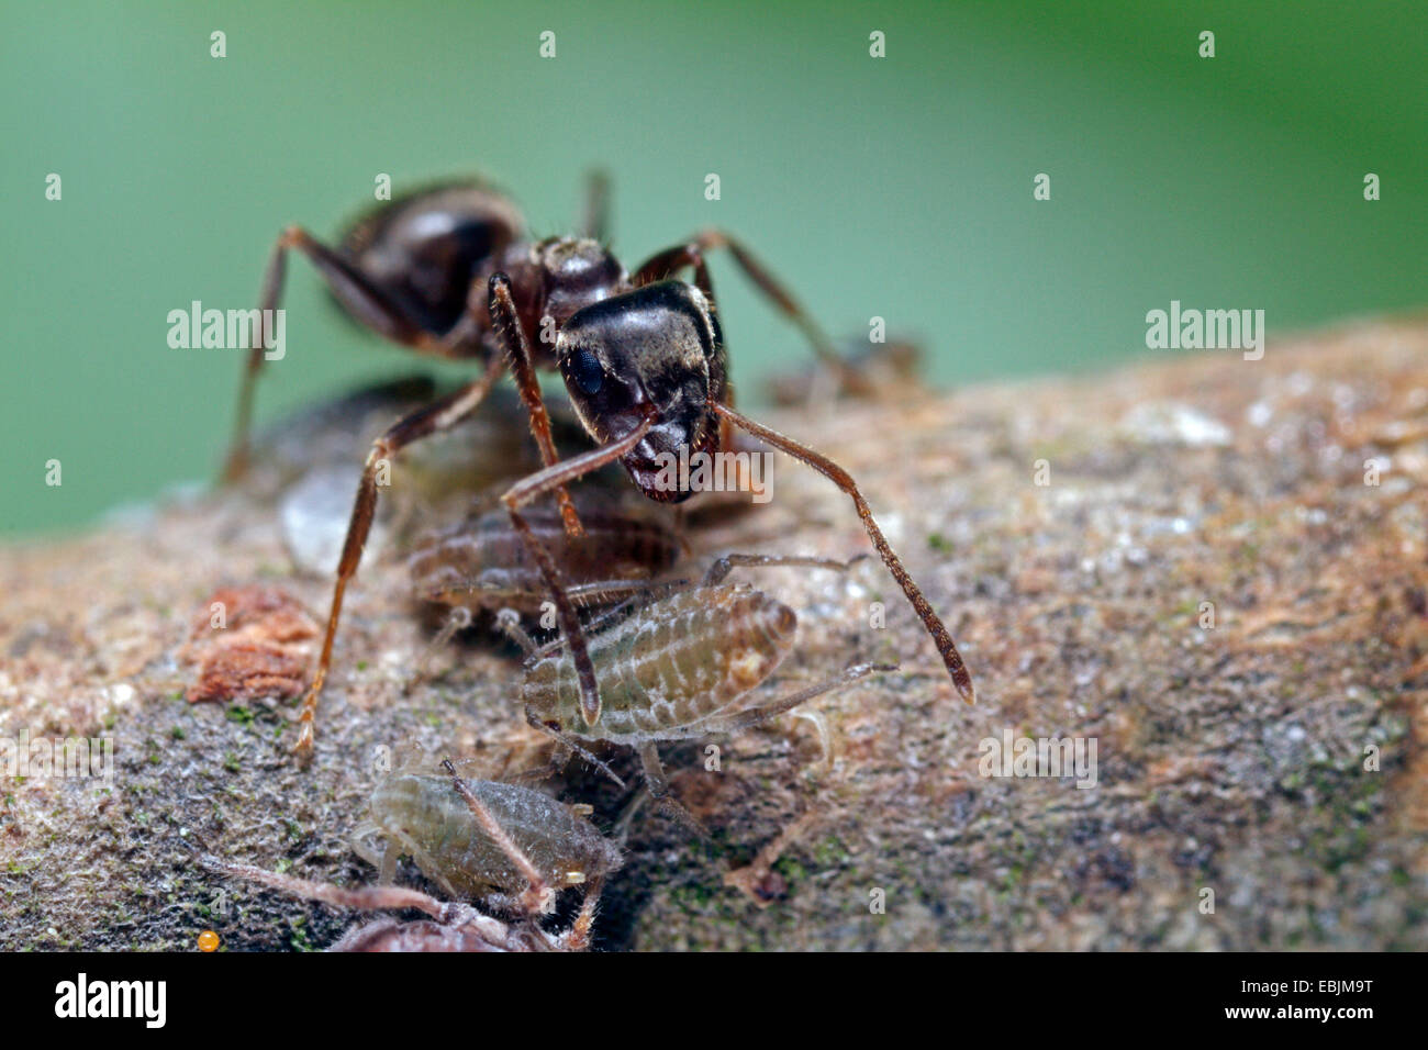
[[[278,234],[268,256],[267,269],[263,271],[263,289],[258,293],[260,321],[248,344],[248,360],[243,370],[243,381],[238,387],[238,409],[233,426],[233,443],[228,447],[227,463],[223,469],[223,479],[233,481],[247,471],[248,466],[248,430],[253,423],[253,389],[257,384],[258,371],[266,360],[264,329],[271,310],[283,299],[283,286],[287,279],[287,253],[297,249],[313,263],[318,276],[327,283],[328,290],[347,310],[363,324],[380,336],[386,336],[394,343],[436,350],[437,341],[408,317],[373,284],[361,270],[346,261],[330,247],[318,241],[313,234],[300,226],[290,226]]]

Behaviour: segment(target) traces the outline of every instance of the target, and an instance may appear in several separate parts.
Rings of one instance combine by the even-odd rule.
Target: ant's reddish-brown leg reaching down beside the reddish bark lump
[[[377,513],[377,476],[381,470],[391,469],[391,457],[413,441],[438,430],[446,430],[470,416],[486,399],[496,380],[500,379],[503,364],[498,357],[487,361],[486,371],[480,379],[467,383],[446,397],[418,409],[410,416],[398,420],[387,429],[381,437],[371,443],[367,453],[367,464],[363,467],[361,481],[357,483],[357,499],[353,504],[351,519],[347,521],[347,539],[343,541],[343,557],[337,563],[337,581],[333,586],[333,606],[327,614],[327,633],[323,636],[323,654],[317,661],[317,674],[313,684],[303,697],[303,714],[300,717],[301,731],[297,737],[297,751],[311,753],[313,750],[313,720],[317,717],[317,699],[323,693],[327,681],[327,670],[333,663],[333,640],[337,637],[337,623],[343,614],[343,594],[347,581],[357,573],[361,563],[363,547],[367,546],[367,533],[371,531],[371,520]]]

